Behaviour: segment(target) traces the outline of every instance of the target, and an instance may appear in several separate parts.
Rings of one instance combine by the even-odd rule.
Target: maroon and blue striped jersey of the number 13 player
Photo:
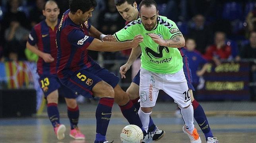
[[[58,24],[60,21],[58,20]],[[38,49],[44,53],[50,54],[54,61],[47,63],[39,57],[37,61],[37,72],[39,75],[56,75],[56,30],[58,24],[52,29],[47,25],[45,20],[35,25],[29,34],[28,42],[30,45],[37,45]]]

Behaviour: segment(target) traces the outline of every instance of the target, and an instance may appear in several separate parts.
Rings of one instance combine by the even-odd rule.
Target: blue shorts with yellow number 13
[[[43,89],[45,94],[45,98],[53,92],[54,90],[58,89],[58,93],[65,98],[77,98],[78,95],[75,94],[74,91],[62,85],[58,77],[55,75],[40,75],[39,78],[39,85]]]

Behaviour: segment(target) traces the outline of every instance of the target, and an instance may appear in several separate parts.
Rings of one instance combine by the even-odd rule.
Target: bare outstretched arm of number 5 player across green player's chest
[[[91,44],[87,47],[88,50],[93,51],[121,51],[125,49],[138,47],[139,43],[143,41],[143,36],[137,35],[134,37],[132,41],[126,42],[109,42],[109,41],[101,41],[98,39],[94,39]]]

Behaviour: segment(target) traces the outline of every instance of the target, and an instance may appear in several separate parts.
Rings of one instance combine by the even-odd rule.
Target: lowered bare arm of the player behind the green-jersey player
[[[132,48],[132,52],[128,58],[128,61],[126,62],[126,64],[124,64],[120,67],[119,72],[120,72],[122,78],[126,78],[126,76],[125,76],[126,71],[128,71],[130,69],[133,62],[140,56],[140,53],[142,53],[142,49],[140,46],[138,46],[137,48]]]

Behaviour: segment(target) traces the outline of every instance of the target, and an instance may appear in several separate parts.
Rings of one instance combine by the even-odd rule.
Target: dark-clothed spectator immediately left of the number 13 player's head
[[[40,23],[45,19],[45,16],[42,14],[42,10],[44,9],[45,6],[45,0],[36,0],[36,7],[31,9],[29,12],[30,16],[30,26],[33,27],[37,23]]]

